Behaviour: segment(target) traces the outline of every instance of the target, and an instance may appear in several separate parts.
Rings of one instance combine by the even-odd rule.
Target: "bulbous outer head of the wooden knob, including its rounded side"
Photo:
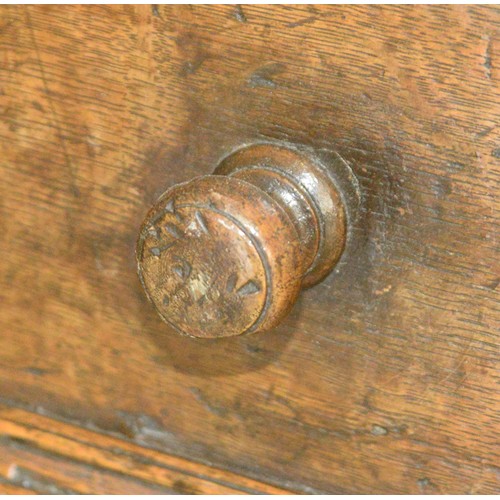
[[[239,179],[199,177],[167,191],[147,215],[139,275],[179,332],[239,335],[269,328],[293,304],[298,248],[293,224],[264,192]]]

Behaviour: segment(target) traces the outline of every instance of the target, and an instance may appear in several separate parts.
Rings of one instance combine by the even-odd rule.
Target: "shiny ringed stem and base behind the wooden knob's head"
[[[290,217],[303,254],[302,286],[323,280],[346,241],[346,211],[332,167],[305,149],[254,144],[224,158],[214,172],[250,182],[270,195]]]

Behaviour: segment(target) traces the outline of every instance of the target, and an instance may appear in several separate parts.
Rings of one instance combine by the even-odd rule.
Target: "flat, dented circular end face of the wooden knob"
[[[160,315],[196,336],[249,330],[267,299],[265,265],[250,235],[213,204],[172,198],[163,205],[143,234],[139,266]]]

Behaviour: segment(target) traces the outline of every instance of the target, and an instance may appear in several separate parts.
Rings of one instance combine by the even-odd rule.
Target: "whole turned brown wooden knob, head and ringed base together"
[[[138,272],[161,318],[202,338],[268,330],[345,244],[346,213],[328,165],[259,144],[213,175],[168,189],[147,214]]]

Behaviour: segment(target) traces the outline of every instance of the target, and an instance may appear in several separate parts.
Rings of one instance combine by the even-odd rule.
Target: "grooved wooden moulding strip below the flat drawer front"
[[[0,435],[0,493],[290,493],[21,409],[0,407]]]

